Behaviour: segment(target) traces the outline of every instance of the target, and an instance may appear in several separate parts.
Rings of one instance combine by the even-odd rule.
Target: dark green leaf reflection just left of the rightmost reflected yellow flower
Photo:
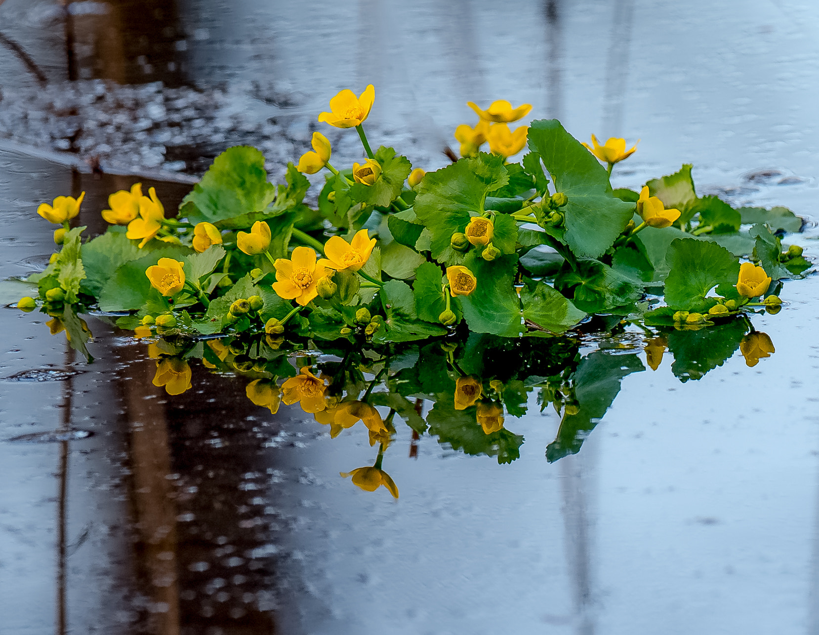
[[[680,381],[702,378],[705,373],[722,366],[740,347],[745,335],[744,320],[736,319],[699,331],[671,331],[668,349],[674,355],[671,370]]]

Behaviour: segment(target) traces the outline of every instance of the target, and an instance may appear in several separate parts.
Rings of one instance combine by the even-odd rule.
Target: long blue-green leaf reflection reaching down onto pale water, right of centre
[[[581,359],[574,374],[579,410],[577,414],[563,415],[557,436],[546,448],[546,460],[551,463],[568,454],[577,454],[586,436],[595,429],[620,392],[622,378],[640,371],[645,371],[645,366],[635,354],[597,350]]]

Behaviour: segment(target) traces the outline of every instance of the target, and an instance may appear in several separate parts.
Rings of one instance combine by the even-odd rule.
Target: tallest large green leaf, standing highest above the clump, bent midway
[[[555,190],[568,196],[566,243],[581,258],[600,257],[631,220],[634,205],[613,195],[603,166],[557,119],[533,121],[529,147],[541,155]]]

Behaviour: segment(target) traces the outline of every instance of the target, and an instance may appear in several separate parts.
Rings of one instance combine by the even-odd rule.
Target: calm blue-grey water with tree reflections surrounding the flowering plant
[[[34,20],[51,5],[0,4],[0,32],[61,81],[65,42]],[[106,3],[70,6],[117,15],[92,4]],[[242,82],[275,83],[311,113],[375,76],[382,127],[421,137],[437,166],[465,101],[530,101],[578,137],[641,137],[616,186],[693,161],[701,192],[816,216],[812,4],[166,6],[174,45],[152,51],[170,74],[129,49],[116,75],[80,47],[76,76],[138,83],[139,70],[251,98]],[[369,38],[387,50],[371,62]],[[4,87],[32,81],[0,54]],[[0,154],[2,304],[52,251],[39,202],[87,191],[78,221],[100,232],[106,196],[133,180]],[[151,184],[168,209],[189,187]],[[817,237],[810,225],[793,241],[811,256]],[[43,314],[2,308],[0,633],[819,633],[817,292],[815,277],[786,283],[781,313],[753,318],[776,353],[749,367],[737,351],[699,379],[681,381],[669,353],[653,371],[639,329],[578,336],[585,360],[622,356],[622,381],[556,461],[561,417],[537,390],[506,417],[525,438],[508,464],[397,425],[384,457],[397,501],[339,475],[375,460],[361,426],[332,439],[196,361],[171,396],[128,332],[86,318],[87,364]]]

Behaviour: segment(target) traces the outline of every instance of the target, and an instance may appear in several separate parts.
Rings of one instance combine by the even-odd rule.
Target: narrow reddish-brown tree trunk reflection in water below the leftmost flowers
[[[123,349],[129,354],[133,349]],[[164,391],[152,385],[151,360],[134,363],[133,377],[123,382],[130,432],[131,496],[140,546],[137,559],[152,600],[151,633],[179,635],[176,503]]]

